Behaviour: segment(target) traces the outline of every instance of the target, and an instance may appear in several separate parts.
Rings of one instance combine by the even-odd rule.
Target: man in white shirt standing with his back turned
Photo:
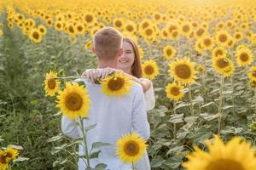
[[[93,38],[93,53],[98,58],[98,68],[116,68],[119,56],[123,53],[123,37],[119,31],[112,27],[104,27],[96,32]],[[123,98],[110,98],[102,94],[102,85],[95,84],[85,79],[83,81],[88,94],[90,95],[91,105],[89,119],[84,120],[86,127],[96,124],[96,127],[87,133],[87,144],[89,150],[94,142],[104,142],[111,144],[101,148],[99,158],[90,160],[90,167],[95,167],[98,163],[108,165],[111,170],[130,170],[131,165],[119,161],[115,154],[116,141],[122,135],[137,132],[144,139],[148,140],[150,129],[147,120],[146,106],[143,96],[143,88],[133,82],[129,95]],[[67,116],[62,116],[61,129],[64,134],[74,139],[81,138],[79,128],[73,126],[73,121],[68,120]],[[84,155],[83,145],[79,145],[79,155]],[[86,165],[79,159],[79,170],[84,170]]]

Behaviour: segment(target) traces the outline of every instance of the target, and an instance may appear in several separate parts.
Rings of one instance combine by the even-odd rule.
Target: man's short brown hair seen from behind
[[[122,34],[113,27],[106,26],[99,31],[93,38],[96,55],[99,59],[114,59],[122,46]]]

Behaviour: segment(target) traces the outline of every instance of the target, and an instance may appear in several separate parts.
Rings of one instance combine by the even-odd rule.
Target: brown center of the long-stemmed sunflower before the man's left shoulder
[[[79,111],[83,105],[83,99],[77,93],[67,95],[66,106],[70,111]]]

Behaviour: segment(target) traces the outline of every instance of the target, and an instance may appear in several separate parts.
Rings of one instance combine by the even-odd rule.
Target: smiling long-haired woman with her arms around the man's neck
[[[137,43],[131,38],[124,37],[123,40],[124,53],[118,59],[118,69],[105,68],[105,69],[88,69],[82,74],[83,77],[90,78],[91,82],[96,82],[100,78],[104,79],[112,74],[114,71],[122,72],[126,76],[129,76],[135,82],[138,82],[143,87],[144,97],[146,100],[147,111],[154,108],[154,88],[150,80],[142,78],[142,65],[141,58],[138,52]],[[150,163],[148,159],[148,153],[137,162],[139,170],[150,170]]]

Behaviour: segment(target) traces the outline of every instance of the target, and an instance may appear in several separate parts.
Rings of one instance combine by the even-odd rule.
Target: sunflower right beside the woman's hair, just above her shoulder
[[[154,79],[159,74],[159,68],[157,63],[153,59],[148,59],[142,65],[143,67],[143,77]]]

